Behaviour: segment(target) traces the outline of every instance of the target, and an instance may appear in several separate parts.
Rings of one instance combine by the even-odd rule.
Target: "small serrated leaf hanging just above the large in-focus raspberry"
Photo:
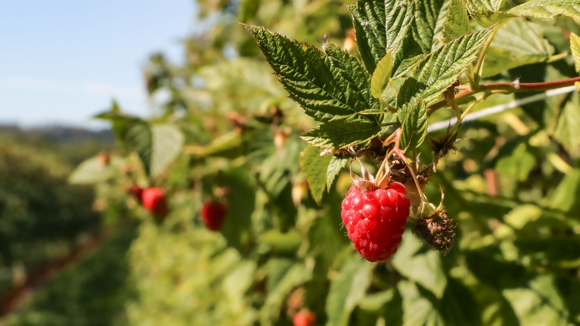
[[[423,100],[417,99],[405,104],[399,111],[399,119],[404,114],[400,148],[403,151],[414,150],[427,136],[427,106]]]

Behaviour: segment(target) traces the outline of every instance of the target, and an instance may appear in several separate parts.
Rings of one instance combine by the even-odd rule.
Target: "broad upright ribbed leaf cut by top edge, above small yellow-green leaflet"
[[[414,62],[402,64],[404,60],[420,55],[412,38],[412,4],[407,1],[360,0],[349,6],[353,15],[354,32],[358,51],[369,74],[374,73],[376,65],[387,51],[393,51],[393,76],[398,77],[408,70]],[[401,67],[400,67],[401,66]]]

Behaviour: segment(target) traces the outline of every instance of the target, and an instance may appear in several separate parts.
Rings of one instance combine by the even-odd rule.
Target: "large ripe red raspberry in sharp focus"
[[[361,191],[353,185],[341,215],[354,248],[369,262],[383,262],[397,252],[407,225],[405,186],[391,181],[386,189]]]

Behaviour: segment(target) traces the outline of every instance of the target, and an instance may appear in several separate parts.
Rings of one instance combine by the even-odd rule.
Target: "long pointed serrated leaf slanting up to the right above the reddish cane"
[[[441,93],[453,84],[458,75],[477,57],[477,53],[495,26],[463,35],[444,44],[421,60],[397,97],[397,106],[420,96],[429,105],[440,99]]]

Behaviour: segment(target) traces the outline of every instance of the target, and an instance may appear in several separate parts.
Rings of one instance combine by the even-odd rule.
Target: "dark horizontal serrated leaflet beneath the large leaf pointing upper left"
[[[374,121],[360,118],[360,115],[336,117],[310,131],[300,134],[300,138],[322,148],[343,148],[365,142],[378,135],[380,126]]]

